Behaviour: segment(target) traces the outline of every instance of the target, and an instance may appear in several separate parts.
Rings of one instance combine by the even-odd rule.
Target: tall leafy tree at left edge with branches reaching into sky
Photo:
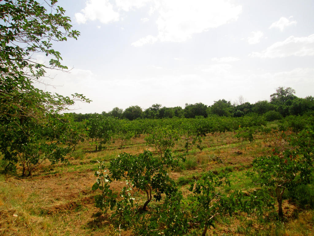
[[[68,122],[59,113],[77,99],[90,101],[82,94],[64,97],[33,85],[45,76],[46,69],[68,69],[61,64],[61,54],[52,48],[52,42],[76,39],[79,35],[78,31],[71,30],[70,18],[56,3],[57,0],[52,0],[51,4],[34,0],[0,3],[0,126],[3,136],[0,149],[11,164],[22,162],[23,174],[25,165],[31,174],[33,167],[29,164],[35,166],[41,158],[50,157],[52,162],[63,160],[65,152],[58,151],[58,142],[50,146],[41,142],[50,138],[43,131],[50,127],[55,134],[61,134],[62,130],[50,126],[55,121]],[[49,65],[38,62],[36,53],[46,54]]]

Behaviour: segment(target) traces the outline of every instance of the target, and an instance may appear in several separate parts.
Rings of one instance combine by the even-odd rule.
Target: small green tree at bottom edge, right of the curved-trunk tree
[[[221,172],[215,175],[211,171],[190,185],[192,221],[203,228],[202,236],[206,235],[208,227],[214,226],[216,216],[232,216],[236,211],[248,213],[257,205],[253,194],[246,199],[241,191],[225,194],[223,188],[228,185],[227,174]]]

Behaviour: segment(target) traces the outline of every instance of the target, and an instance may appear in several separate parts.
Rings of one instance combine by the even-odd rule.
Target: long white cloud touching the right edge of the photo
[[[263,52],[253,52],[250,56],[261,58],[314,56],[314,34],[308,37],[290,36],[282,42],[274,43]]]

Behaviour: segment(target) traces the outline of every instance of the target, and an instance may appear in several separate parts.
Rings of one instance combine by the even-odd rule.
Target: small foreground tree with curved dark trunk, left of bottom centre
[[[138,191],[145,192],[146,201],[140,208],[142,211],[146,210],[153,197],[156,201],[160,201],[163,194],[170,196],[176,193],[176,184],[169,177],[167,170],[177,167],[179,160],[181,158],[173,158],[169,150],[165,152],[163,159],[153,156],[147,150],[139,155],[121,153],[116,159],[110,161],[109,174],[101,163],[100,171],[95,172],[95,176],[98,177],[97,181],[92,187],[92,190],[101,190],[101,194],[95,196],[96,206],[105,211],[109,209],[109,206],[111,210],[116,209],[111,217],[118,218],[118,225],[127,225],[131,221],[130,218],[138,213],[134,210],[135,198],[132,197],[130,190],[135,187]],[[113,180],[121,181],[122,179],[126,180],[127,187],[122,188],[120,197],[117,198],[117,195],[113,194],[110,189],[110,183]]]

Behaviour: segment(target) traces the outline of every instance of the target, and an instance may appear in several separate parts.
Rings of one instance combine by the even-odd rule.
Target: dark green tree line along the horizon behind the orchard
[[[208,117],[211,115],[225,117],[241,117],[250,113],[265,115],[266,120],[278,120],[287,115],[302,115],[305,112],[314,110],[314,97],[298,98],[294,95],[295,90],[291,87],[278,87],[276,93],[270,95],[270,101],[258,101],[255,104],[245,102],[240,96],[238,101],[231,104],[230,101],[219,99],[214,101],[211,106],[203,103],[185,104],[181,106],[165,107],[161,104],[153,104],[151,107],[143,110],[140,106],[130,106],[125,110],[115,107],[109,112],[103,111],[101,115],[105,117],[116,117],[118,119],[136,120],[136,119],[162,119],[162,118],[195,118],[197,116]],[[89,119],[92,113],[76,114],[72,113],[75,121]],[[94,113],[95,114],[95,113]]]

